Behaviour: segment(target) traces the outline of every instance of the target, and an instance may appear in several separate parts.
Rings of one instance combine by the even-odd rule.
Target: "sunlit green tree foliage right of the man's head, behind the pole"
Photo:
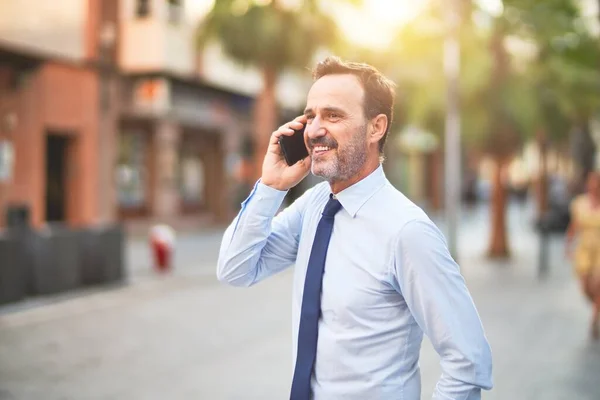
[[[555,141],[564,140],[574,123],[600,109],[600,43],[574,0],[503,3],[499,16],[482,18],[476,8],[463,13],[463,141],[499,152],[540,130]],[[426,13],[402,28],[385,67],[398,82],[402,122],[439,135],[446,109],[446,32],[440,7],[446,4],[432,2]],[[473,7],[470,2],[465,6]]]

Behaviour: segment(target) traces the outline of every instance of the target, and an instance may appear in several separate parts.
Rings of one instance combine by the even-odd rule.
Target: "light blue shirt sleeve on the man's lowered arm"
[[[441,358],[433,399],[481,399],[481,389],[493,385],[491,350],[442,233],[429,220],[408,222],[395,251],[394,278]]]

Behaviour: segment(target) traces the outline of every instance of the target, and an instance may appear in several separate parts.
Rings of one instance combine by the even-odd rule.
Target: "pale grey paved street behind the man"
[[[530,218],[511,207],[510,264],[483,257],[487,210],[461,219],[459,261],[494,353],[496,387],[484,399],[597,400],[589,307],[560,238],[538,280]],[[219,234],[179,238],[172,276],[155,277],[135,242],[128,285],[0,308],[0,400],[286,398],[290,271],[250,289],[220,285]],[[440,373],[427,340],[421,369],[427,399]]]

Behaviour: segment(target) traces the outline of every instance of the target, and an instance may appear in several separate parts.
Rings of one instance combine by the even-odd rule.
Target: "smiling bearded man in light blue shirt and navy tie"
[[[292,400],[420,399],[423,333],[441,357],[434,399],[480,399],[491,352],[459,267],[381,166],[393,84],[333,57],[314,78],[304,115],[273,132],[224,235],[219,280],[250,286],[295,265]],[[310,157],[289,167],[278,140],[304,124]],[[276,216],[310,170],[326,182]]]

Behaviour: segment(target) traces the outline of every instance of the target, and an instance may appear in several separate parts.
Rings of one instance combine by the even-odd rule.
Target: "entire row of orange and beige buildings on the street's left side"
[[[197,10],[178,0],[9,3],[0,226],[21,206],[36,227],[121,220],[143,231],[202,228],[237,211],[236,167],[262,78],[218,44],[198,56]],[[282,115],[302,109],[306,89],[293,74],[280,79]]]

